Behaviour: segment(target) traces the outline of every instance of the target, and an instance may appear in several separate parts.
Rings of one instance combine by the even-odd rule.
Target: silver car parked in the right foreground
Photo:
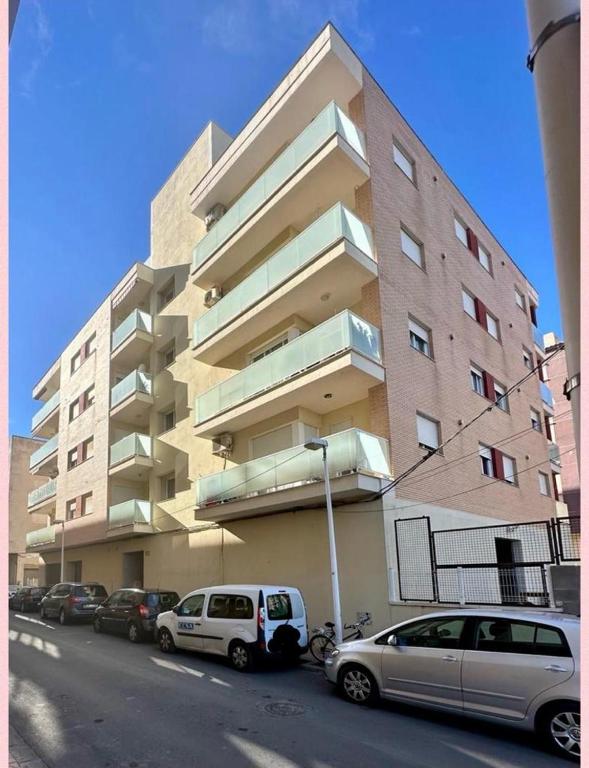
[[[339,645],[327,679],[356,704],[379,697],[535,730],[579,759],[579,619],[523,610],[455,610]]]

